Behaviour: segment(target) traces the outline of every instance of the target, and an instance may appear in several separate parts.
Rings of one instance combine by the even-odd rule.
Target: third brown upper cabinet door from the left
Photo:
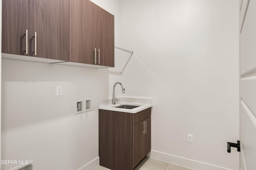
[[[69,61],[97,64],[95,39],[97,13],[98,6],[89,0],[70,0]]]

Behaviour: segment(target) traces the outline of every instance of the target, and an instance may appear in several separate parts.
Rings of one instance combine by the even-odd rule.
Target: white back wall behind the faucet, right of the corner
[[[238,0],[121,0],[120,9],[120,46],[135,55],[110,74],[109,98],[117,81],[126,93],[116,96],[153,98],[155,158],[237,170],[226,143],[239,139]]]

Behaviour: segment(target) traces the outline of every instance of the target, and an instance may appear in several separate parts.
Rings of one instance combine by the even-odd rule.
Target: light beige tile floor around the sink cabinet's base
[[[98,166],[94,170],[110,170],[110,169],[105,168],[103,166]],[[144,158],[144,160],[140,162],[140,164],[138,164],[138,166],[134,170],[192,170],[192,169],[146,157]]]

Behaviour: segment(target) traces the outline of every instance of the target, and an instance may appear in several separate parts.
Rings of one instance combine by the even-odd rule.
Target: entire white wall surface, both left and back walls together
[[[97,102],[120,81],[117,96],[154,99],[152,150],[238,169],[238,153],[226,152],[239,137],[238,0],[92,1],[115,15],[115,45],[135,55],[109,79],[105,69],[3,59],[2,160],[70,170],[96,158]],[[93,111],[74,115],[88,97]]]

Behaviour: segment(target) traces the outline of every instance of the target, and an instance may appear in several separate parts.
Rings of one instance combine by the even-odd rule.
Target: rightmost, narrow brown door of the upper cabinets
[[[100,7],[98,15],[99,65],[114,67],[114,16]]]

